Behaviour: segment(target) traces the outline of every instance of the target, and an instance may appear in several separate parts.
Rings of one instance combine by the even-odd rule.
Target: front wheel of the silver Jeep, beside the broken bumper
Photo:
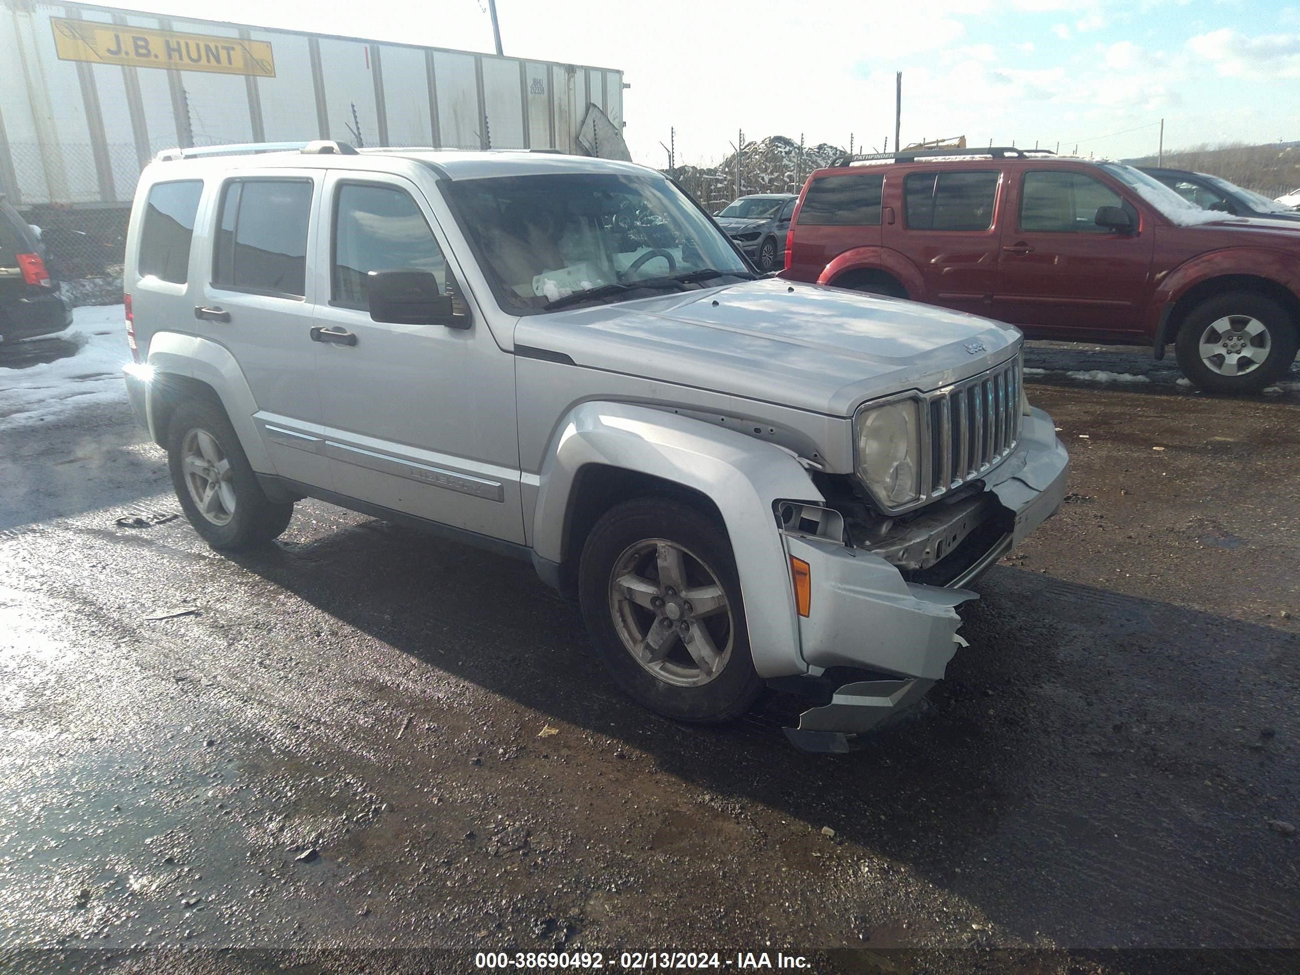
[[[597,656],[651,711],[718,724],[762,692],[731,542],[694,508],[644,497],[607,511],[582,549],[578,598]]]

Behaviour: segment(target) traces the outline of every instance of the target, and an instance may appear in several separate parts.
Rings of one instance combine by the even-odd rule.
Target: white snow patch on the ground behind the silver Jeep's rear
[[[72,342],[75,354],[26,368],[0,365],[0,428],[125,400],[122,367],[131,361],[125,320],[121,304],[73,308],[72,326],[44,338]]]

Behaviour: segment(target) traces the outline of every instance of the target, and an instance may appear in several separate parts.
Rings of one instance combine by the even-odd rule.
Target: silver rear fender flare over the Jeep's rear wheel
[[[186,335],[181,332],[156,332],[150,339],[148,364],[153,367],[155,376],[164,373],[187,376],[211,386],[221,400],[221,406],[225,407],[235,433],[239,434],[239,446],[248,455],[248,464],[259,473],[276,473],[276,465],[270,460],[270,454],[266,452],[266,445],[263,443],[261,434],[252,420],[252,415],[257,412],[257,402],[248,387],[248,380],[244,378],[239,363],[235,361],[229,348],[198,335]],[[150,434],[161,443],[161,437],[166,436],[166,430],[159,430],[153,419],[157,389],[157,382],[150,384],[144,411]]]

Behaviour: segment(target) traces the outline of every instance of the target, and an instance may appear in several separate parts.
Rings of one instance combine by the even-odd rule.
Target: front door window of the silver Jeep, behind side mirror
[[[334,303],[368,309],[372,270],[426,270],[446,291],[442,248],[411,195],[393,186],[343,183],[334,217]]]

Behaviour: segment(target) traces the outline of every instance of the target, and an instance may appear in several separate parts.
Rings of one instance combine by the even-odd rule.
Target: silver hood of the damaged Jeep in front
[[[850,416],[1014,355],[1010,325],[897,298],[746,281],[519,320],[515,343],[581,367]]]

